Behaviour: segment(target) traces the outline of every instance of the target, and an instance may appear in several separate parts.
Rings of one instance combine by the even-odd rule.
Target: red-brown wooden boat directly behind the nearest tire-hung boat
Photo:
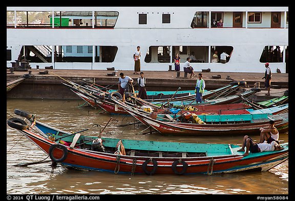
[[[171,117],[171,115],[165,115],[167,118],[158,118],[157,114],[146,115],[134,107],[125,105],[122,101],[114,101],[137,120],[147,126],[151,126],[163,135],[260,135],[260,128],[268,126],[269,120],[275,121],[279,132],[288,131],[288,113],[279,115],[198,115],[197,117],[199,117],[201,123],[192,123],[193,119],[186,122],[182,121],[182,115],[175,118]],[[205,124],[202,122],[205,122]]]

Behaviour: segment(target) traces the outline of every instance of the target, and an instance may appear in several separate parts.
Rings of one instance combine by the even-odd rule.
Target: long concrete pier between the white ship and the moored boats
[[[45,69],[31,69],[31,78],[24,80],[21,84],[12,88],[7,93],[7,98],[46,98],[46,99],[80,99],[68,87],[61,82],[72,81],[80,83],[82,79],[95,80],[96,84],[108,86],[112,89],[118,88],[119,74],[123,72],[125,75],[134,79],[134,89],[138,89],[137,78],[140,75],[133,74],[133,71],[120,71],[115,73],[115,76],[109,76],[108,70],[47,70],[48,74],[42,74]],[[9,72],[9,70],[7,70]],[[41,72],[41,73],[39,73]],[[27,72],[17,72],[7,74],[7,81],[20,77]],[[112,73],[112,72],[111,72]],[[176,91],[178,87],[181,90],[194,90],[198,77],[184,77],[184,72],[180,72],[177,77],[177,72],[174,71],[144,71],[146,78],[147,91]],[[279,97],[288,90],[288,74],[273,73],[271,81],[270,96],[265,96],[264,88],[264,73],[222,73],[222,72],[195,72],[203,74],[206,90],[214,90],[222,87],[233,81],[246,81],[247,88],[259,85],[261,92],[258,92],[252,97],[254,101],[268,100]],[[27,73],[29,74],[29,73]],[[219,79],[216,79],[220,77]],[[229,80],[230,78],[231,80]]]

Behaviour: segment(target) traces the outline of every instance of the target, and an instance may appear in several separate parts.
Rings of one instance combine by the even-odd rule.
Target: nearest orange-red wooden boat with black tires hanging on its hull
[[[37,121],[35,115],[15,109],[22,116],[7,120],[49,155],[53,164],[77,170],[122,174],[216,174],[268,171],[288,160],[288,143],[276,151],[249,153],[234,144],[200,144],[102,138],[67,132]],[[23,120],[25,117],[25,120]],[[27,123],[28,122],[28,123]]]

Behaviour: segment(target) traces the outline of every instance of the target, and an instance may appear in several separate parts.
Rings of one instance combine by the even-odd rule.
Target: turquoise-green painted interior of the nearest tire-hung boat
[[[60,140],[65,142],[73,142],[75,133],[62,131],[60,129],[47,126],[43,123],[36,121],[35,125],[41,132],[47,137],[53,136],[55,139],[61,138]],[[72,135],[71,135],[72,134]],[[66,136],[66,137],[65,137]],[[97,139],[97,136],[86,136],[80,135],[76,145],[85,143],[87,149],[90,149],[92,141]],[[131,151],[138,152],[135,155],[146,156],[150,154],[151,157],[159,157],[159,152],[164,152],[162,157],[215,157],[221,155],[241,155],[243,152],[238,152],[241,147],[233,144],[210,144],[210,143],[182,143],[182,142],[158,142],[158,141],[144,141],[144,140],[129,140],[129,139],[113,139],[103,137],[102,144],[109,150],[109,153],[114,153],[117,148],[119,140],[123,144],[127,154],[131,154]],[[288,143],[281,144],[284,147],[283,150],[288,150]],[[82,147],[81,147],[82,148]],[[85,148],[85,147],[84,147]],[[269,152],[249,153],[247,157],[256,157],[259,155],[269,154]],[[243,159],[244,159],[243,158]]]

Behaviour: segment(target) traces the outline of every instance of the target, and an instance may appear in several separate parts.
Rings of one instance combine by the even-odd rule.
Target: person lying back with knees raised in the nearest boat
[[[243,146],[238,151],[245,151],[243,154],[245,157],[249,155],[249,151],[251,153],[263,152],[263,151],[280,151],[284,148],[281,147],[276,141],[272,141],[270,144],[268,143],[255,143],[249,136],[244,136],[243,138]]]

